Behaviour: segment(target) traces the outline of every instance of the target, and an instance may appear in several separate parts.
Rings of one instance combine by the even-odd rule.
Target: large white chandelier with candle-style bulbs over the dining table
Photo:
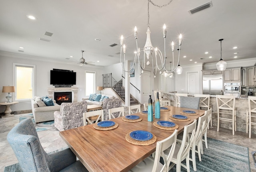
[[[138,47],[138,33],[137,33],[137,27],[135,26],[134,28],[134,38],[136,41],[136,54],[134,56],[134,61],[132,64],[131,69],[125,69],[125,53],[126,53],[126,47],[123,44],[124,42],[124,37],[121,36],[121,40],[120,40],[120,46],[121,46],[121,53],[120,53],[120,63],[122,66],[122,70],[127,72],[130,76],[130,74],[132,74],[135,70],[136,67],[136,62],[138,59],[138,71],[139,74],[141,76],[141,74],[143,73],[143,70],[145,69],[146,65],[150,65],[150,59],[152,60],[152,70],[154,72],[154,77],[156,77],[156,72],[157,70],[160,71],[160,74],[162,74],[162,70],[164,70],[165,73],[168,73],[169,76],[172,76],[173,73],[172,72],[176,72],[176,74],[181,74],[182,73],[182,67],[180,66],[180,47],[181,47],[181,43],[182,43],[182,35],[180,34],[179,36],[179,49],[178,49],[178,62],[177,65],[174,66],[174,42],[172,42],[172,67],[170,69],[170,71],[168,71],[166,69],[166,25],[164,24],[163,26],[163,37],[164,37],[164,55],[162,54],[162,52],[160,51],[160,49],[158,49],[157,47],[153,47],[151,40],[150,40],[150,27],[149,27],[149,3],[153,4],[154,6],[158,6],[159,8],[163,7],[163,6],[167,6],[172,2],[172,0],[170,0],[170,2],[168,2],[168,4],[162,5],[162,6],[158,6],[156,4],[154,4],[151,0],[148,0],[148,29],[147,29],[147,38],[146,38],[146,43],[143,49]],[[123,67],[123,63],[122,63],[122,51],[123,51],[123,55],[124,55],[124,67]],[[142,55],[143,53],[143,55]],[[140,57],[142,57],[142,59],[140,59]],[[151,58],[150,58],[151,57]],[[154,61],[155,59],[155,61]],[[158,64],[157,61],[159,61],[158,59],[160,59],[161,64]],[[146,63],[146,65],[145,65]],[[158,66],[160,65],[160,67]]]

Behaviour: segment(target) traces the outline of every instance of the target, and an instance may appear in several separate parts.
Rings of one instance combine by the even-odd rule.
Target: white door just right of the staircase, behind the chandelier
[[[143,103],[148,102],[149,95],[151,95],[151,77],[150,71],[144,71],[142,76],[142,93],[143,93]]]

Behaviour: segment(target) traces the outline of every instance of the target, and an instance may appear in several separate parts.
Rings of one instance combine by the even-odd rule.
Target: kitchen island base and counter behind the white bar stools
[[[194,95],[188,95],[194,96]],[[164,93],[163,97],[170,100],[171,106],[176,106],[175,93]],[[217,103],[216,95],[210,96],[210,105],[212,105],[212,126],[217,127]],[[246,109],[248,109],[248,97],[236,97],[236,130],[246,132]],[[207,110],[207,109],[204,109]],[[221,121],[220,127],[232,130],[232,123],[228,121]],[[256,134],[256,126],[252,125],[252,134]]]

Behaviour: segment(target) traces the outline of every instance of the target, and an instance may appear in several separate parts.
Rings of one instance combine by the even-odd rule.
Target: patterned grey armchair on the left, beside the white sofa
[[[60,111],[54,112],[54,126],[60,131],[84,126],[83,113],[87,112],[87,102],[62,103]]]

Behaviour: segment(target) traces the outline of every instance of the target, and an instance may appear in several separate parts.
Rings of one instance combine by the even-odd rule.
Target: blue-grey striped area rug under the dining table
[[[250,172],[247,147],[222,142],[213,138],[207,138],[207,140],[208,149],[204,146],[201,162],[196,154],[197,172]],[[185,164],[185,162],[182,163]],[[181,172],[186,171],[185,168],[181,167]],[[190,162],[190,171],[194,171],[192,162]],[[21,172],[21,170],[17,163],[6,166],[4,172]],[[176,165],[169,172],[176,172]]]

